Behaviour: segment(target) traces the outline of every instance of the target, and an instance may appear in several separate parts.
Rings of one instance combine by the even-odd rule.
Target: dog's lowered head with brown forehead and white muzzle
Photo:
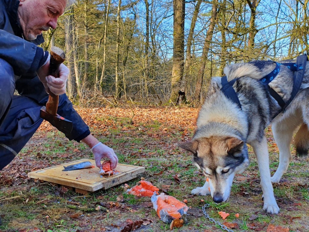
[[[235,174],[249,165],[247,145],[238,138],[199,138],[178,146],[193,153],[194,164],[210,179],[210,193],[217,203],[229,198]]]

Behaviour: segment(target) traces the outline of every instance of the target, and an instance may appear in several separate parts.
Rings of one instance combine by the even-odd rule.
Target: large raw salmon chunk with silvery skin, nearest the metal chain
[[[189,209],[189,207],[180,200],[177,200],[173,196],[165,195],[164,193],[152,195],[151,201],[159,218],[166,223],[171,223],[174,219],[185,219]]]

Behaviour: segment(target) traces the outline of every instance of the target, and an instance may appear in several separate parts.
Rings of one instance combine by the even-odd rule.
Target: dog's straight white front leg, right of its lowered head
[[[253,151],[256,155],[257,164],[260,170],[261,187],[264,195],[263,209],[270,214],[279,213],[275,196],[273,195],[273,185],[271,183],[269,171],[269,153],[267,148],[267,139],[264,136],[262,141],[251,143]]]

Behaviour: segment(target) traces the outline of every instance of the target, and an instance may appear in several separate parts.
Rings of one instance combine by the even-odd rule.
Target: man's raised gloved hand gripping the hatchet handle
[[[66,81],[69,76],[69,69],[64,64],[59,67],[59,77],[49,75],[49,58],[47,62],[36,72],[43,83],[47,93],[61,95],[66,92]]]

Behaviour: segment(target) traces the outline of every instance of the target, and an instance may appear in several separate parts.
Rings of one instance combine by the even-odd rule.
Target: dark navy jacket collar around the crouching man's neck
[[[20,28],[19,20],[17,18],[17,10],[18,10],[20,1],[19,0],[3,0],[3,1],[6,6],[6,11],[9,15],[10,24],[13,28],[14,34],[16,36],[23,37],[23,31]],[[43,35],[40,34],[36,37],[35,40],[30,40],[29,42],[32,42],[36,45],[40,45],[41,43],[44,42]]]

